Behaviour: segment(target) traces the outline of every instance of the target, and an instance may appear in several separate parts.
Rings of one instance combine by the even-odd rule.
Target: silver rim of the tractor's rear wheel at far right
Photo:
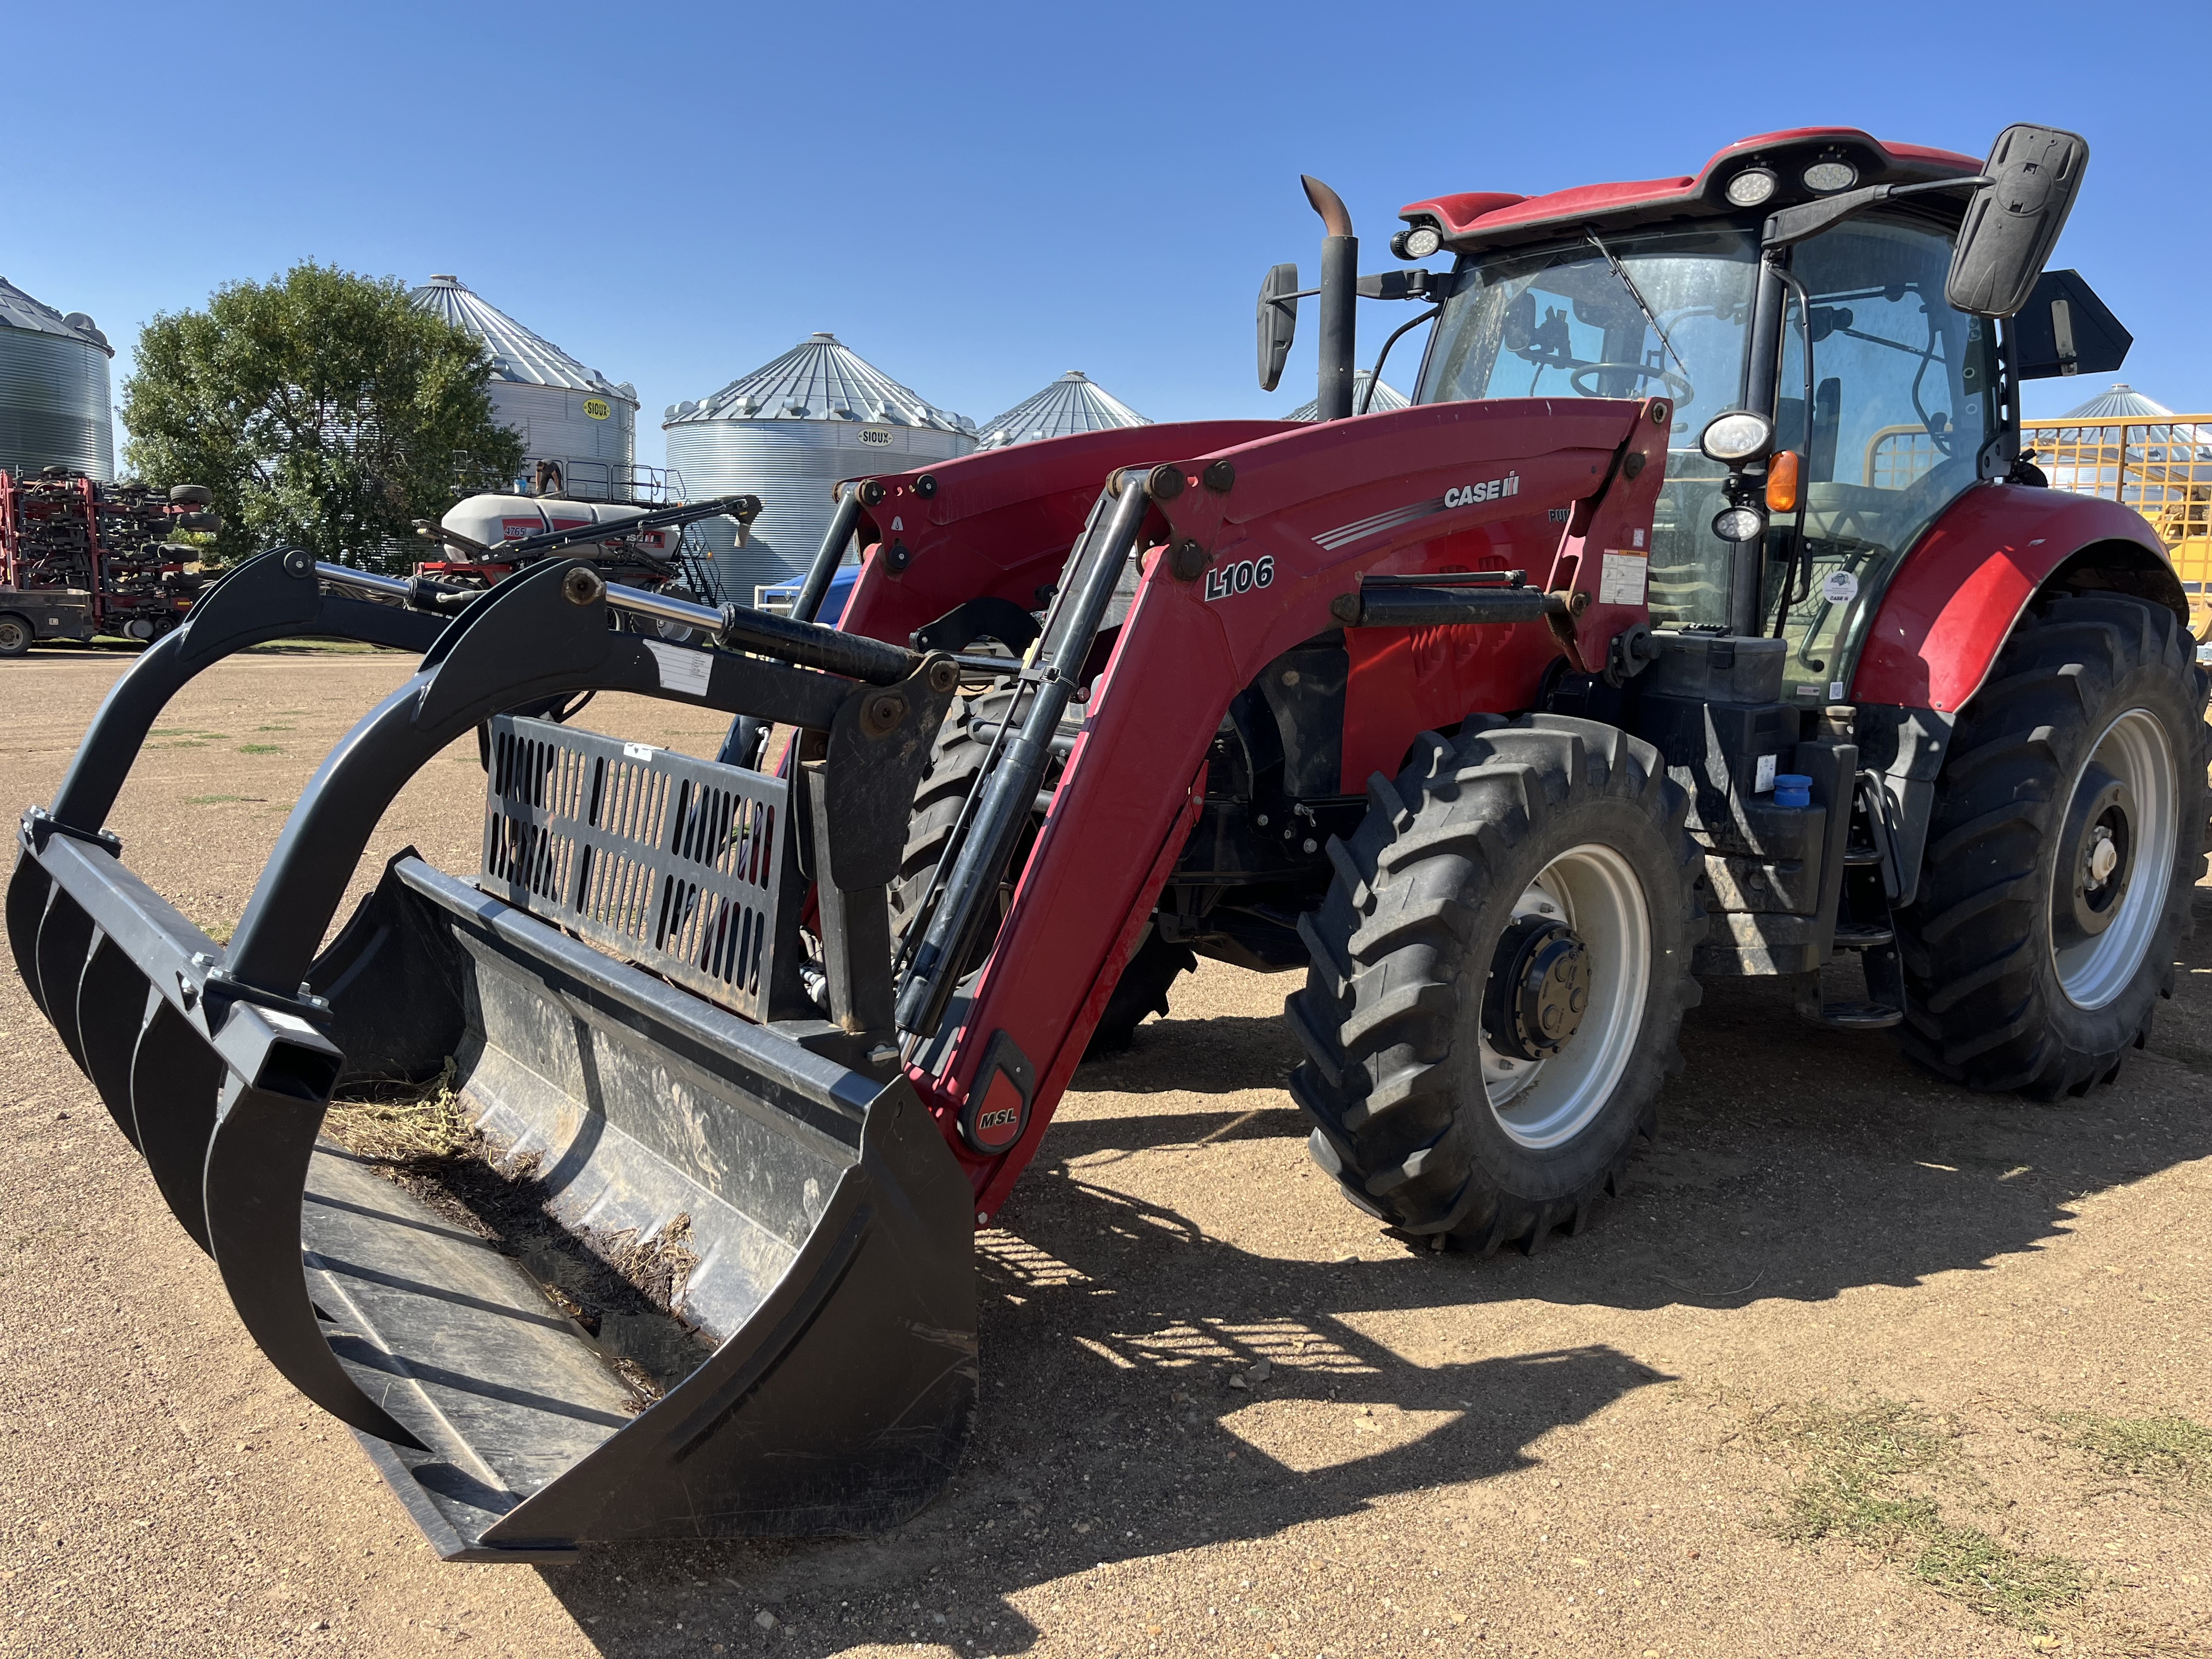
[[[2174,748],[2166,741],[2166,728],[2150,710],[2130,708],[2104,728],[2104,737],[2097,739],[2097,748],[2090,750],[2066,792],[2068,825],[2075,818],[2075,796],[2084,787],[2097,787],[2099,774],[2117,779],[2124,794],[2104,814],[2081,823],[2079,834],[2062,841],[2051,878],[2051,962],[2057,969],[2059,989],[2077,1009],[2101,1009],[2135,982],[2150,953],[2150,942],[2157,938],[2159,920],[2166,916],[2166,891],[2174,876],[2181,785],[2174,772]],[[2099,827],[2106,834],[2099,836]],[[2101,856],[2099,841],[2106,847]],[[2126,863],[2112,863],[2108,852],[2112,845],[2126,849]],[[2108,865],[2101,880],[2099,863]],[[2106,900],[2104,931],[2090,938],[2064,936],[2057,927],[2059,907],[2070,907],[2077,885],[2104,889],[2110,883],[2119,883],[2121,891],[2115,900]]]

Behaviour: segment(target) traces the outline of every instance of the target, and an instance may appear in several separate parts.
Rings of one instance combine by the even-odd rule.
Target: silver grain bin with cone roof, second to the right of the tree
[[[697,526],[723,591],[745,599],[814,557],[836,480],[909,471],[975,447],[973,420],[891,380],[836,334],[807,336],[712,398],[670,405],[661,429],[686,495],[761,498],[745,546],[728,520]]]

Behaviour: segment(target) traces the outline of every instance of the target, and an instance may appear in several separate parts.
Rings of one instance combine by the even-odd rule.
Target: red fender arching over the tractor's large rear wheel
[[[2028,599],[2093,542],[2132,542],[2172,575],[2157,533],[2119,502],[2024,484],[1975,484],[1920,538],[1882,593],[1851,677],[1851,699],[1944,712],[1964,708]],[[2174,593],[2181,593],[2179,580]]]

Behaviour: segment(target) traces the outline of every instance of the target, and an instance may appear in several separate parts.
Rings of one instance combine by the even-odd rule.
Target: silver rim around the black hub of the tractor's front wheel
[[[1588,1128],[1628,1071],[1650,991],[1650,907],[1635,867],[1586,843],[1544,865],[1513,916],[1559,918],[1590,953],[1590,1002],[1557,1055],[1513,1060],[1482,1035],[1491,1117],[1520,1146],[1544,1150]]]

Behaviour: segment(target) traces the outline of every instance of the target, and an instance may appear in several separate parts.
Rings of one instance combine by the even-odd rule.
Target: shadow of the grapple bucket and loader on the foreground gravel
[[[1528,1469],[1542,1436],[1670,1380],[1608,1345],[1416,1367],[1338,1318],[1407,1263],[1283,1263],[1066,1172],[1040,1186],[1020,1234],[980,1239],[982,1402],[951,1491],[883,1537],[540,1568],[599,1652],[1026,1652],[1022,1590]]]

